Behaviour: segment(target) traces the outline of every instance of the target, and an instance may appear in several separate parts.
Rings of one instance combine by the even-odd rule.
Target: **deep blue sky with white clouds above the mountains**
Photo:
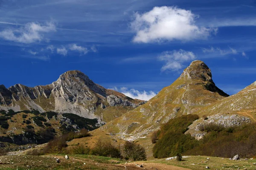
[[[0,0],[0,16],[6,87],[80,70],[149,99],[196,59],[228,94],[256,81],[255,0]]]

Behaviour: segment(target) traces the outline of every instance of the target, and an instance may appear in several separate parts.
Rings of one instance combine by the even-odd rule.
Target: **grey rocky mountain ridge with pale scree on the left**
[[[97,85],[81,71],[67,71],[52,84],[34,88],[0,85],[0,110],[5,111],[74,113],[104,123],[144,103]]]

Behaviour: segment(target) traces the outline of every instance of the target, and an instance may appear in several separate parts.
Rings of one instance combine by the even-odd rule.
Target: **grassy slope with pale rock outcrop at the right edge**
[[[256,122],[256,82],[237,94],[204,107],[195,114],[202,118],[193,122],[186,133],[196,139],[201,139],[206,134],[201,132],[200,127],[212,122],[223,127]]]

